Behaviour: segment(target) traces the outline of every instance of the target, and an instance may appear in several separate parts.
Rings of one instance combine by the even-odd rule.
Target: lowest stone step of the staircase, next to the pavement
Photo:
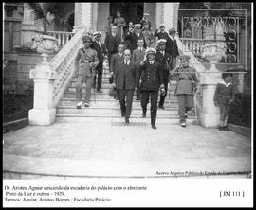
[[[104,116],[88,116],[83,114],[56,114],[56,122],[61,123],[90,123],[90,122],[107,122],[112,124],[113,126],[121,126],[124,125],[124,118],[120,116],[111,116],[111,117],[104,117]],[[179,126],[179,118],[176,116],[170,116],[167,118],[163,117],[156,117],[156,126],[160,125],[174,125],[176,124]],[[187,124],[198,124],[198,121],[195,117],[188,117]],[[146,118],[142,118],[140,116],[132,115],[130,117],[130,125],[129,126],[147,126],[150,127],[150,114],[147,114]]]

